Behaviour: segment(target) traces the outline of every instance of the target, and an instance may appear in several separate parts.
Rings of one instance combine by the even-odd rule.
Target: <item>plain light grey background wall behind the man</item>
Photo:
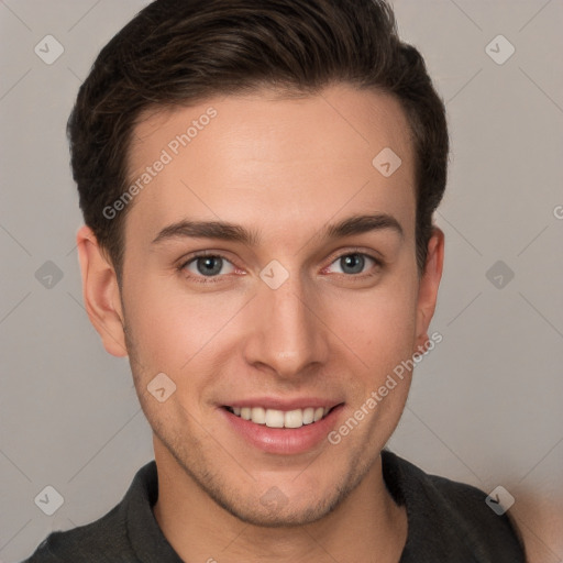
[[[104,352],[82,307],[81,217],[64,130],[98,51],[146,3],[0,0],[2,561],[109,511],[153,457],[129,364]],[[503,485],[532,560],[558,562],[563,2],[396,0],[395,8],[402,37],[422,52],[446,101],[452,156],[437,214],[446,263],[432,330],[443,342],[417,368],[390,446],[487,493]],[[65,49],[52,65],[34,53],[47,34]],[[485,49],[499,34],[516,48],[501,65]],[[497,57],[508,53],[496,45]],[[47,261],[63,274],[52,287]],[[47,485],[64,497],[53,516],[34,503]]]

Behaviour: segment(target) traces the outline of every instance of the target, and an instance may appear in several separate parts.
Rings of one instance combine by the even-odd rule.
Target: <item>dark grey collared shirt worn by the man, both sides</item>
[[[428,475],[387,450],[382,459],[386,486],[408,515],[407,543],[398,563],[525,563],[510,520],[485,504],[485,493]],[[154,518],[157,496],[153,460],[139,470],[121,503],[106,516],[51,533],[24,563],[183,563]]]

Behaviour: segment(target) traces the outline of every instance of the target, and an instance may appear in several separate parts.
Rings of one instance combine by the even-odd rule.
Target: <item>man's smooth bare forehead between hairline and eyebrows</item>
[[[400,103],[374,91],[262,90],[154,111],[136,125],[129,156],[131,183],[148,181],[139,184],[126,230],[147,238],[186,217],[252,223],[272,236],[346,211],[413,223],[410,129]],[[398,158],[393,175],[382,174]]]

